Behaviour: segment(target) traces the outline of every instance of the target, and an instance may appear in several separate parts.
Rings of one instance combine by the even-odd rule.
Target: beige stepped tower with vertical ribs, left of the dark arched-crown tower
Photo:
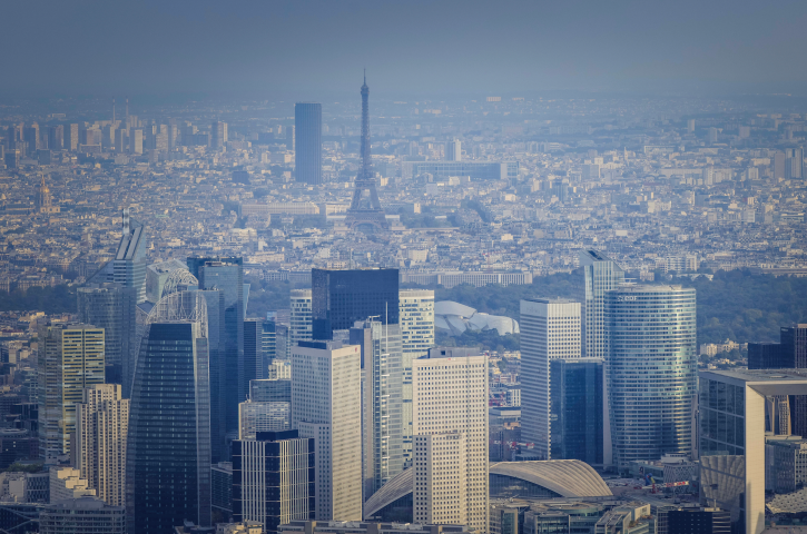
[[[126,505],[126,445],[129,399],[118,384],[96,384],[76,405],[76,467],[98,498]]]

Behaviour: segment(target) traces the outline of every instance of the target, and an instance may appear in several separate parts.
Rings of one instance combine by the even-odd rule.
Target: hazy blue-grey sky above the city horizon
[[[16,1],[0,95],[807,92],[807,1]]]

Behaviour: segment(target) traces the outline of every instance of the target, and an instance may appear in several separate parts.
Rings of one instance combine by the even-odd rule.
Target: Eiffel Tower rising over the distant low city
[[[356,187],[353,190],[351,208],[345,217],[345,226],[351,229],[371,230],[372,228],[386,230],[390,228],[384,208],[378,201],[378,191],[375,189],[375,174],[370,156],[370,88],[367,75],[364,75],[362,86],[362,168],[356,176]],[[372,230],[371,230],[372,231]]]

